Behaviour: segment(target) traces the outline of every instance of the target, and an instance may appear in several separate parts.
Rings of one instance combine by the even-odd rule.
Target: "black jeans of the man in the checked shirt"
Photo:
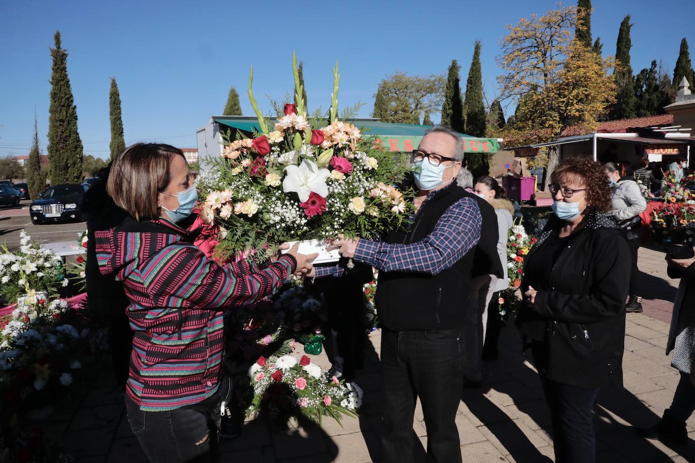
[[[382,461],[413,461],[413,417],[420,398],[427,455],[460,462],[456,412],[463,387],[462,329],[382,331]]]

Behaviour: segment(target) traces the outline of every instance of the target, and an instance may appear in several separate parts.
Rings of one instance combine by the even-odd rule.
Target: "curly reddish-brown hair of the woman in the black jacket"
[[[615,162],[608,164],[615,165]],[[602,166],[600,163],[587,156],[578,156],[563,160],[555,167],[553,174],[550,175],[550,183],[555,185],[566,185],[575,183],[583,185],[586,189],[584,193],[587,199],[587,208],[598,212],[607,212],[611,208],[611,190],[606,179],[606,170],[610,170],[608,165]],[[614,169],[617,171],[619,169]]]

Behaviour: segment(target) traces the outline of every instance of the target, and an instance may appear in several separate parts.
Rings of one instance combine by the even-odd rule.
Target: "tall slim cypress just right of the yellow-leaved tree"
[[[616,103],[611,111],[613,119],[628,119],[637,115],[635,112],[637,104],[635,78],[632,76],[632,67],[630,66],[630,48],[632,47],[630,28],[632,28],[630,15],[627,15],[620,24],[618,41],[616,43],[615,59],[619,67],[616,68],[614,73],[618,91]]]

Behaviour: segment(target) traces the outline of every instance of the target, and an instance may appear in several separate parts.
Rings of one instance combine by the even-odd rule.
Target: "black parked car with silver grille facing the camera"
[[[31,203],[31,221],[34,224],[57,221],[82,221],[82,185],[54,185]]]

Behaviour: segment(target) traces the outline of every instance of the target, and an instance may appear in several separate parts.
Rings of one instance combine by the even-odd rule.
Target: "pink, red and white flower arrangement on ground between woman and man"
[[[249,414],[267,411],[272,418],[302,414],[321,423],[331,416],[338,423],[343,415],[357,416],[362,390],[351,382],[341,382],[326,373],[306,355],[260,357],[249,369],[254,386],[254,401]]]

